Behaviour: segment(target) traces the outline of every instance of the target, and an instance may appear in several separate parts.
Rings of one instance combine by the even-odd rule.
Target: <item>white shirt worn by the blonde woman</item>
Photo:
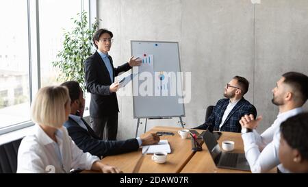
[[[69,173],[71,169],[91,169],[97,156],[81,151],[65,127],[57,129],[53,141],[36,124],[34,134],[26,136],[18,149],[17,173]]]

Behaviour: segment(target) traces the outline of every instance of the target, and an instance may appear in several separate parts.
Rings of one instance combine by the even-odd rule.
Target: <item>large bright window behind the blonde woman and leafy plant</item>
[[[73,26],[70,18],[81,10],[95,15],[96,3],[0,1],[0,134],[33,124],[29,109],[36,91],[58,84],[51,62],[62,47],[63,29]]]

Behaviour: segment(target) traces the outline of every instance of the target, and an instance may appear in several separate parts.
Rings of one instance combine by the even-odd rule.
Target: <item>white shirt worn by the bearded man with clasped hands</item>
[[[279,165],[278,169],[282,173],[289,173],[279,161],[280,125],[286,119],[301,112],[303,108],[294,108],[278,114],[274,123],[261,136],[255,130],[242,134],[244,151],[251,166],[251,172],[264,173]]]

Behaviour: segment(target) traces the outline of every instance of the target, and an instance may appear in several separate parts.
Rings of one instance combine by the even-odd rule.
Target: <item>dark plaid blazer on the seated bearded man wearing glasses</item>
[[[220,99],[214,109],[211,112],[211,115],[207,118],[203,125],[194,127],[194,129],[209,129],[209,131],[219,131],[219,125],[222,121],[222,116],[224,115],[224,110],[226,110],[227,105],[229,104],[230,99]],[[257,110],[254,105],[249,103],[244,97],[236,103],[234,108],[231,110],[227,119],[224,121],[224,124],[220,128],[220,131],[226,132],[241,132],[240,119],[245,114],[253,114],[257,116]]]

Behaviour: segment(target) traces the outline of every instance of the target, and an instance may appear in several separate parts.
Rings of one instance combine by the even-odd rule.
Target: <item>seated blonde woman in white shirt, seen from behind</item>
[[[17,173],[69,173],[71,169],[120,173],[75,145],[63,127],[68,114],[70,97],[66,87],[47,86],[38,90],[31,105],[31,119],[36,123],[34,134],[21,142]]]

